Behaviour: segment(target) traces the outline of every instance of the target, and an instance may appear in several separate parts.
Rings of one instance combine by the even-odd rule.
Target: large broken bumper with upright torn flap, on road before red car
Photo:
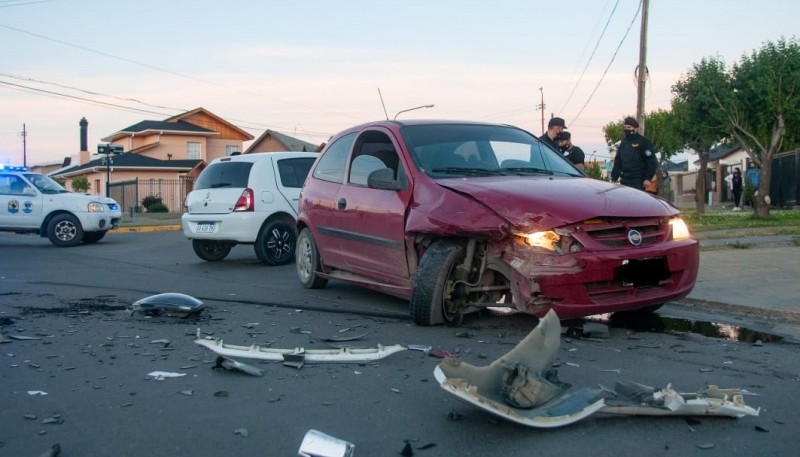
[[[582,388],[563,394],[569,384],[558,380],[553,361],[561,342],[558,316],[550,311],[514,349],[489,366],[477,367],[453,357],[444,359],[434,376],[447,392],[497,416],[536,428],[560,427],[596,412],[652,416],[758,416],[745,405],[743,391],[707,386],[678,393],[633,382],[609,389]],[[567,363],[570,366],[577,364]],[[606,405],[607,397],[613,404]]]

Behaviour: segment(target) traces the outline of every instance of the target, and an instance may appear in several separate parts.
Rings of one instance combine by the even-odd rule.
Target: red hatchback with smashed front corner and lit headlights
[[[306,179],[297,274],[410,300],[419,325],[507,306],[561,319],[654,310],[694,287],[679,211],[586,177],[516,127],[380,121],[331,139]]]

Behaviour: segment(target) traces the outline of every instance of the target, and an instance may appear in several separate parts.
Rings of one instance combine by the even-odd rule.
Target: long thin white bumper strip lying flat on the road
[[[251,346],[237,346],[223,343],[218,339],[194,340],[196,344],[206,347],[213,352],[227,357],[241,357],[245,359],[258,359],[270,361],[297,361],[298,359],[307,363],[361,363],[371,362],[386,358],[400,351],[405,351],[405,347],[394,344],[383,346],[379,344],[374,348],[340,348],[340,349],[305,349],[297,347],[294,349],[279,349],[261,347],[257,344]]]

